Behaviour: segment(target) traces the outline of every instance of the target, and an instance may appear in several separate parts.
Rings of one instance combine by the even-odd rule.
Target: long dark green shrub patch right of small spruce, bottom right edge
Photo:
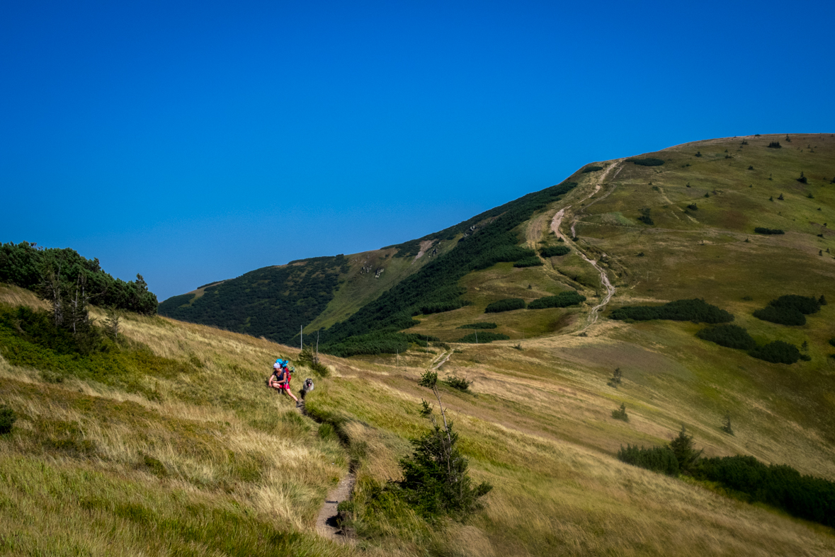
[[[717,482],[751,502],[771,504],[792,516],[835,527],[835,482],[804,476],[785,464],[766,465],[752,456],[701,459],[699,479]]]

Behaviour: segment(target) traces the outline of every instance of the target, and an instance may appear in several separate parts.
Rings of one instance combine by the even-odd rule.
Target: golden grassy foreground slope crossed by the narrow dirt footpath
[[[6,306],[38,306],[0,289]],[[831,308],[832,306],[828,306]],[[832,310],[822,317],[831,319]],[[610,324],[594,337],[325,358],[331,379],[308,396],[330,427],[266,391],[265,369],[296,350],[164,318],[129,316],[124,336],[184,366],[153,393],[91,379],[49,383],[48,369],[0,360],[0,402],[18,414],[0,437],[0,519],[8,554],[829,554],[832,531],[741,503],[710,485],[671,479],[613,458],[620,444],[670,439],[686,422],[706,454],[755,454],[835,478],[832,444],[783,399],[690,334]],[[659,352],[669,346],[669,352]],[[0,349],[5,349],[0,344]],[[692,354],[697,354],[694,360]],[[362,513],[375,486],[397,478],[417,413],[423,369],[474,379],[443,388],[477,480],[495,487],[468,524],[429,527],[411,514]],[[10,357],[10,356],[9,356]],[[620,389],[606,385],[624,369]],[[765,364],[759,372],[782,369]],[[731,369],[729,372],[728,369]],[[296,374],[303,377],[305,372]],[[629,424],[610,417],[625,401]],[[734,404],[736,436],[721,432]],[[359,459],[355,544],[313,527],[329,486]],[[48,509],[48,512],[43,512]],[[388,512],[388,511],[387,511]],[[393,512],[393,511],[392,511]],[[230,534],[234,532],[234,534]]]

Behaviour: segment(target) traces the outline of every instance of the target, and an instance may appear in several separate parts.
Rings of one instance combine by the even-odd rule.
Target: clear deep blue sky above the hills
[[[835,3],[3,2],[0,242],[165,299],[584,163],[835,132]]]

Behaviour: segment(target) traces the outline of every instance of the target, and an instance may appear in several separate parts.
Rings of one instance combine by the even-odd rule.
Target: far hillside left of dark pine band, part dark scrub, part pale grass
[[[443,257],[480,225],[528,203],[532,196],[553,201],[555,197],[549,197],[552,193],[553,188],[531,193],[406,243],[347,257],[301,259],[207,284],[164,300],[159,304],[159,314],[292,343],[300,326],[313,331],[350,318],[403,278]],[[518,215],[514,218],[517,224],[524,220]],[[513,243],[515,239],[511,238],[509,244]],[[443,295],[434,298],[445,299]],[[331,334],[331,338],[334,336]]]

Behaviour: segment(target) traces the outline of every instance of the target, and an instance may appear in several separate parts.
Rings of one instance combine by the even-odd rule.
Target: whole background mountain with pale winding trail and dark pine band
[[[214,293],[215,305],[198,290],[166,300],[160,313],[283,342],[297,342],[303,325],[305,334],[321,332],[324,349],[342,355],[401,352],[413,339],[397,336],[406,329],[456,341],[469,334],[459,328],[474,321],[494,323],[494,332],[510,339],[577,334],[600,312],[675,299],[706,299],[745,321],[769,299],[832,288],[833,182],[832,134],[686,143],[591,163],[560,186],[438,233],[347,256],[347,267],[331,268],[330,290],[306,286],[321,278],[299,271],[293,289],[259,287],[264,295],[241,307],[223,301],[225,284],[234,283],[226,281],[204,290]],[[757,233],[761,228],[783,233]],[[273,271],[280,282],[290,280],[288,272]],[[246,290],[235,288],[229,294]],[[306,289],[321,294],[294,294]],[[566,290],[587,300],[484,314],[501,299],[530,303]],[[262,326],[256,316],[264,311],[276,319],[281,312],[286,328]]]

